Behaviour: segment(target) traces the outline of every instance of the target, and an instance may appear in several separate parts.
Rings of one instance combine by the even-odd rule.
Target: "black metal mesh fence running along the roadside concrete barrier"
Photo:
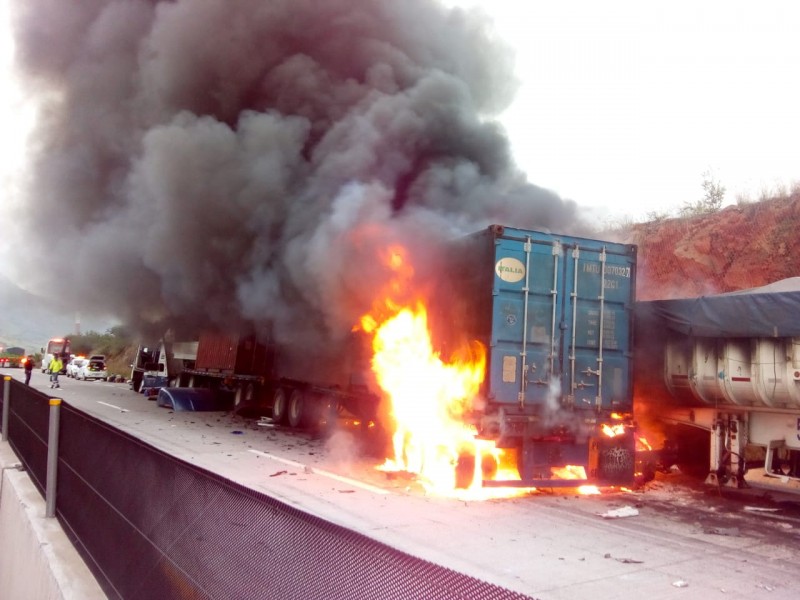
[[[47,397],[20,388],[9,441],[26,466],[44,469]],[[57,516],[109,598],[527,598],[303,513],[68,404],[61,410]]]

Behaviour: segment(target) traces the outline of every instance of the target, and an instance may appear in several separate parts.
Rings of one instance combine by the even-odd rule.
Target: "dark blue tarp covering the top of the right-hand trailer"
[[[800,277],[713,296],[641,301],[635,316],[648,330],[696,337],[800,336]]]

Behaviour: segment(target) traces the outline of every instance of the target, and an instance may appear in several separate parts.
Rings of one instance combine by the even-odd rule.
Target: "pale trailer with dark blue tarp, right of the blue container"
[[[800,277],[639,302],[637,402],[708,435],[706,481],[800,492]]]

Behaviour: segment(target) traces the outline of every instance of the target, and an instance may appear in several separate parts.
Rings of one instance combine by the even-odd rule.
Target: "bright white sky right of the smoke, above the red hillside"
[[[516,52],[502,115],[529,179],[613,219],[800,182],[800,3],[445,0]],[[612,220],[613,220],[612,219]]]

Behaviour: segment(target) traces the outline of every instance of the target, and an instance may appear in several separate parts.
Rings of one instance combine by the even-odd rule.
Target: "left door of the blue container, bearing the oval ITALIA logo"
[[[551,384],[560,380],[562,261],[560,243],[546,234],[520,232],[495,242],[489,369],[491,394],[500,404],[545,404]]]

